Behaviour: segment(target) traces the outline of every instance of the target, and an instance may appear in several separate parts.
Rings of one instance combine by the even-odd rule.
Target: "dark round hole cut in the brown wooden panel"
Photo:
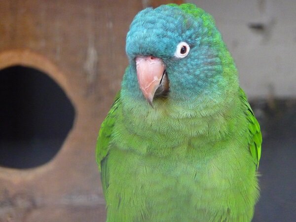
[[[0,70],[0,166],[26,169],[51,160],[74,122],[74,107],[47,74]]]

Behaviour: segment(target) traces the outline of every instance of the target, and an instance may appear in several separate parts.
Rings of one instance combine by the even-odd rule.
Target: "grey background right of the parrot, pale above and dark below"
[[[296,221],[296,0],[192,0],[212,14],[263,134],[253,222]]]

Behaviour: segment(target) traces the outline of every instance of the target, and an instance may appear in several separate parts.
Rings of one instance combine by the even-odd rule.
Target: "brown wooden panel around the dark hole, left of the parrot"
[[[97,133],[127,66],[129,24],[143,6],[161,3],[167,1],[0,1],[0,69],[48,74],[75,108],[73,129],[50,162],[0,167],[0,222],[105,221]]]

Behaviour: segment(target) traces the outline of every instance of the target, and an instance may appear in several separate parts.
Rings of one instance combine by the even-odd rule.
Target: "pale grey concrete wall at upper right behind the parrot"
[[[249,98],[296,96],[295,0],[187,2],[216,19]]]

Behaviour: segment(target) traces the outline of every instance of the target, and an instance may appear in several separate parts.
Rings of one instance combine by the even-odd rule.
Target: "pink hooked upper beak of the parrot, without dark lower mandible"
[[[165,72],[165,65],[162,59],[153,56],[136,57],[136,65],[140,89],[152,106],[155,91],[159,87]]]

